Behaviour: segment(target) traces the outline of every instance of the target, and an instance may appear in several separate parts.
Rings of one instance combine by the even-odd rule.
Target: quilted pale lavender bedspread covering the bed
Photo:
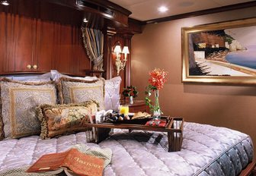
[[[0,141],[0,171],[30,165],[50,152],[63,152],[86,143],[85,133],[51,140],[38,136]],[[88,143],[89,146],[97,146]],[[115,130],[98,144],[112,149],[104,175],[237,175],[253,159],[251,138],[236,130],[206,124],[184,123],[180,152],[167,152],[163,133]]]

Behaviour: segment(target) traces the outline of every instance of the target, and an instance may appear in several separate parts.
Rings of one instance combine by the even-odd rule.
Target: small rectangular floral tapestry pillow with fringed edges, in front
[[[98,104],[88,101],[69,105],[40,105],[37,115],[41,121],[42,139],[61,134],[88,130],[86,124],[92,123],[92,116],[97,112]]]

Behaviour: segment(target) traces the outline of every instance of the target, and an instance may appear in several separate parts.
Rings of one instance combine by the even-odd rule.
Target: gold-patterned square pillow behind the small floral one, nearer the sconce
[[[80,103],[94,100],[104,109],[104,79],[77,80],[61,77],[58,83],[61,104]]]

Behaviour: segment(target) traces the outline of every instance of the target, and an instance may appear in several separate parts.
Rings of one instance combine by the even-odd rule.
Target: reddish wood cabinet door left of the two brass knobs
[[[27,17],[0,14],[0,51],[3,67],[1,72],[30,71],[34,54],[34,22]]]

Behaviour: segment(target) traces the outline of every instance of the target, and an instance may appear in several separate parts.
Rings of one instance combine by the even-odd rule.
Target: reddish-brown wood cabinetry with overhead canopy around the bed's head
[[[109,1],[19,0],[0,5],[0,74],[59,72],[84,76],[93,64],[86,54],[81,26],[104,32],[104,71],[90,75],[107,79],[117,76],[112,57],[119,41],[131,49],[131,37],[141,27],[128,19],[131,14]],[[96,7],[96,8],[95,8]],[[114,12],[107,17],[108,9]],[[88,23],[82,23],[84,17]],[[117,34],[117,35],[115,35]],[[130,55],[121,71],[121,91],[130,86]]]

